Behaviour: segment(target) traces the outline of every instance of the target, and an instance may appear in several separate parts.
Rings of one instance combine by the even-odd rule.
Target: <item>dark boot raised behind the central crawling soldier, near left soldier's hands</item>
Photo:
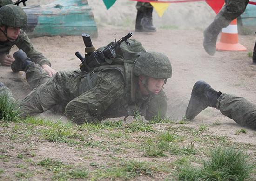
[[[27,57],[27,54],[23,50],[18,50],[13,54],[15,61],[12,63],[11,68],[13,72],[25,71],[27,65],[32,61]]]

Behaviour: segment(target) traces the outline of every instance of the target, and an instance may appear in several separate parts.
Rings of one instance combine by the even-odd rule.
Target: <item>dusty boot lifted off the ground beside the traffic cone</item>
[[[209,55],[214,55],[216,52],[216,42],[221,30],[222,28],[213,22],[203,32],[203,47]]]

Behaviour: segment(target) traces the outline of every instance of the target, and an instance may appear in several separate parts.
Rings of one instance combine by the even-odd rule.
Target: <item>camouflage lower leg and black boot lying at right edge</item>
[[[200,80],[192,89],[186,110],[187,119],[194,119],[208,106],[217,108],[225,116],[241,126],[256,130],[256,104],[244,97],[215,91],[209,84]]]

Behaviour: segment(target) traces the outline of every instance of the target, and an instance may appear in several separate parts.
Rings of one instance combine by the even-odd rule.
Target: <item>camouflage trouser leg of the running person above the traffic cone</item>
[[[233,19],[240,16],[249,3],[249,0],[225,0],[225,5],[216,15],[213,23],[220,29],[227,27]]]

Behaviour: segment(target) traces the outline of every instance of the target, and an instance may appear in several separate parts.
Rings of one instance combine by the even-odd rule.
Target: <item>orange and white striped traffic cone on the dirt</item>
[[[237,20],[234,19],[228,27],[222,28],[221,39],[216,43],[216,50],[245,51],[246,48],[238,43]]]

